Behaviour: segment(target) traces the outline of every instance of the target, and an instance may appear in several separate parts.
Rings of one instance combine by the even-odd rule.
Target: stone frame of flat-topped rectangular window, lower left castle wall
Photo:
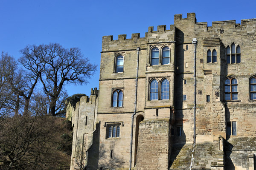
[[[106,123],[106,139],[120,139],[121,122],[108,122]],[[111,131],[110,131],[111,127]]]

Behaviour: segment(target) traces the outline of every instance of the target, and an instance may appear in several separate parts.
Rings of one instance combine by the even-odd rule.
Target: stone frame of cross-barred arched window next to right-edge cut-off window
[[[226,80],[227,80],[227,79],[230,80],[230,84],[226,84]],[[236,81],[237,81],[236,84],[232,83],[232,80],[233,80],[233,79],[236,79]],[[226,89],[226,86],[230,86],[230,88],[229,88],[230,91],[226,91],[226,90],[228,89],[228,88]],[[237,91],[233,91],[233,90],[232,90],[232,87],[234,87],[234,86],[237,87],[237,88],[236,88]],[[238,90],[238,89],[239,89],[239,79],[236,78],[236,77],[234,77],[234,76],[226,77],[226,78],[224,79],[224,99],[225,99],[225,101],[238,101],[238,100],[239,100],[239,97],[238,97],[239,90]],[[226,99],[226,94],[230,94],[230,100],[229,100],[229,99]],[[232,94],[237,94],[237,99],[233,99]]]

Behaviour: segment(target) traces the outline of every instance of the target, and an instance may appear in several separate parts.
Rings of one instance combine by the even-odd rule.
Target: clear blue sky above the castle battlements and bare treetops
[[[0,51],[19,58],[26,45],[57,42],[78,47],[98,65],[90,84],[66,86],[68,94],[90,95],[99,87],[102,36],[140,33],[149,26],[169,28],[175,14],[195,12],[197,22],[256,18],[255,0],[0,0]]]

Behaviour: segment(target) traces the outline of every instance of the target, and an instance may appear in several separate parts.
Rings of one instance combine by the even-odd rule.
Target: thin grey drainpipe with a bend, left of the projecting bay
[[[135,101],[134,101],[134,113],[131,116],[131,148],[130,148],[130,168],[131,170],[131,159],[132,159],[132,138],[133,138],[133,125],[134,125],[134,115],[136,114],[137,109],[137,89],[138,89],[138,74],[139,74],[139,55],[140,55],[140,47],[137,47],[137,74],[136,74],[136,85],[135,85]]]

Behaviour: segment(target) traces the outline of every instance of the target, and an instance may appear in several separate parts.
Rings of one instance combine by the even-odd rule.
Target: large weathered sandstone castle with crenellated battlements
[[[66,117],[71,170],[254,170],[256,19],[104,36],[99,91]]]

